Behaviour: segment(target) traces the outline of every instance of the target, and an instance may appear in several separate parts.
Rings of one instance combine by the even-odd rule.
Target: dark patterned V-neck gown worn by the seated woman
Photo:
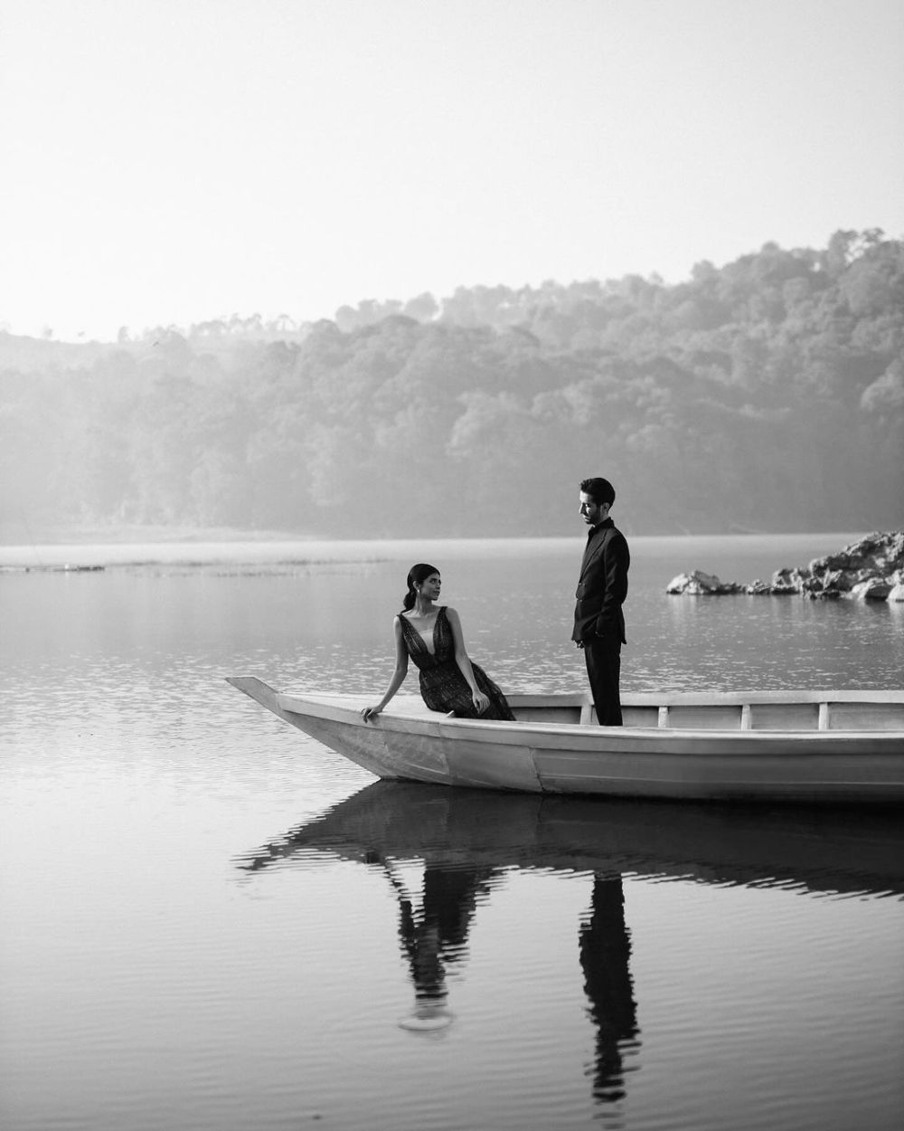
[[[402,639],[408,655],[420,672],[420,694],[431,710],[454,711],[459,718],[496,718],[514,722],[514,715],[505,696],[478,664],[471,661],[473,677],[478,688],[489,697],[489,706],[479,715],[471,700],[471,689],[455,663],[455,645],[452,625],[440,607],[433,627],[433,654],[427,650],[424,638],[407,616],[399,614],[402,622]]]

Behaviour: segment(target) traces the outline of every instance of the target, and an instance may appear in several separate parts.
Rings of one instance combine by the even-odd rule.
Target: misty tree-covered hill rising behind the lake
[[[0,524],[574,534],[904,520],[904,245],[64,345],[0,334]],[[7,537],[7,541],[10,541]]]

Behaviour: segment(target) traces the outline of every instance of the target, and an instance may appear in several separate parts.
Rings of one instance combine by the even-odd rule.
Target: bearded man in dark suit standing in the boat
[[[624,534],[609,518],[615,490],[608,480],[581,483],[581,517],[590,527],[574,606],[574,640],[584,649],[590,691],[600,726],[621,726],[618,680],[628,593],[631,554]]]

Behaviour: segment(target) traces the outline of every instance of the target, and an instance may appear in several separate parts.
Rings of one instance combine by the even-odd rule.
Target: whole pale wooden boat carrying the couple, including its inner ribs
[[[397,696],[374,722],[360,696],[228,680],[381,778],[528,793],[688,801],[904,802],[904,691],[626,694],[600,727],[585,694],[511,694],[516,722],[454,718]]]

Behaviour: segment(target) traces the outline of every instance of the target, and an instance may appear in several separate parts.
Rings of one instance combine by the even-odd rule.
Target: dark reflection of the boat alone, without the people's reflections
[[[380,780],[245,854],[247,871],[299,852],[363,863],[554,869],[904,895],[899,810],[720,805],[498,793]]]

